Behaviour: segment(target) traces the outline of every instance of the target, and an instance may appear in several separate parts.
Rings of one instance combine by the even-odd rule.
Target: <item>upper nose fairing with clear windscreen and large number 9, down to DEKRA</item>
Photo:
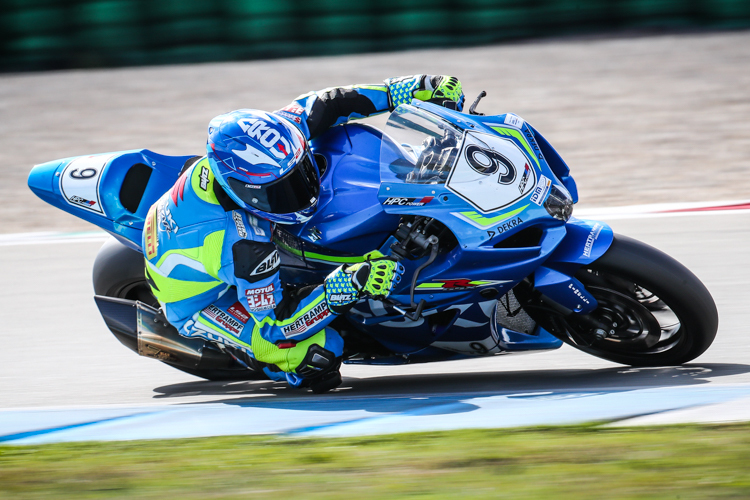
[[[439,175],[420,175],[424,143],[446,136],[456,140],[451,164]],[[552,186],[568,190],[533,129],[513,114],[465,115],[419,101],[399,106],[386,126],[380,179],[378,199],[386,213],[438,219],[465,249],[498,246],[531,226],[565,224],[544,203]]]

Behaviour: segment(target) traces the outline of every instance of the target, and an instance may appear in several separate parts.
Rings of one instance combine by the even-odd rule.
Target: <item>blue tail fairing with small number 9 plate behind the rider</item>
[[[36,165],[28,183],[47,203],[141,251],[149,207],[174,185],[190,158],[147,149],[75,156]]]

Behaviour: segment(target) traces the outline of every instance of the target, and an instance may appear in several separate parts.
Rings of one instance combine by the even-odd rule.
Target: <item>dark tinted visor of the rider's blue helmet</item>
[[[269,214],[299,212],[311,207],[320,194],[318,170],[309,151],[292,170],[268,184],[249,184],[233,177],[227,182],[239,199]]]

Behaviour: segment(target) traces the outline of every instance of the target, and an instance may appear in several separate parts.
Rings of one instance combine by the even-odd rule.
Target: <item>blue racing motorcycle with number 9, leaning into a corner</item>
[[[570,170],[512,113],[485,116],[414,101],[384,130],[349,123],[311,147],[316,214],[276,225],[286,286],[322,283],[368,252],[398,259],[404,279],[331,324],[344,363],[423,363],[547,351],[569,344],[632,366],[686,363],[718,327],[688,269],[607,224],[572,217]],[[95,301],[112,333],[142,356],[210,380],[263,379],[260,364],[169,325],[144,276],[149,207],[195,161],[146,149],[37,165],[44,201],[111,238],[94,262]]]

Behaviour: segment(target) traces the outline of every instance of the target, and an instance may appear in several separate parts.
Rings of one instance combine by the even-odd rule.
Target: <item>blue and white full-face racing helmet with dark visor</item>
[[[299,129],[256,109],[219,115],[208,124],[208,161],[216,181],[240,207],[281,224],[310,219],[320,174]]]

